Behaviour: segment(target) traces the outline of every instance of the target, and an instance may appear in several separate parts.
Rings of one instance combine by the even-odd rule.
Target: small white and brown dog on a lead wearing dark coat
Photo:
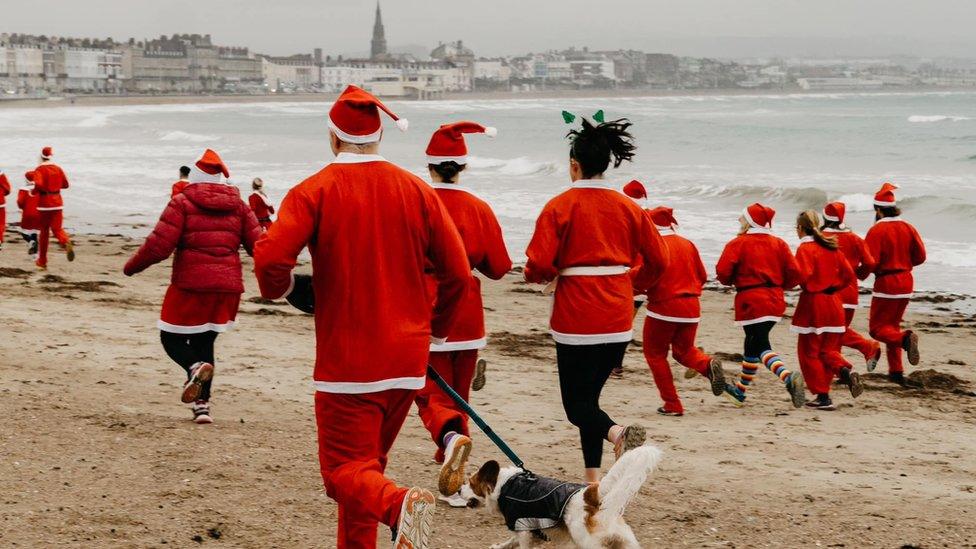
[[[502,469],[489,461],[471,475],[461,495],[485,502],[515,532],[491,549],[525,549],[547,541],[581,549],[640,549],[623,514],[660,461],[658,448],[635,448],[590,485],[536,477],[518,467]]]

